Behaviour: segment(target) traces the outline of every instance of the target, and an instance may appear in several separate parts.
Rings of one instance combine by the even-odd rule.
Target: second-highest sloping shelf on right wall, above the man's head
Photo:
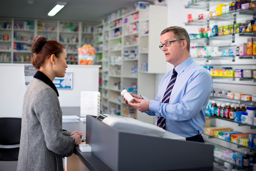
[[[208,24],[208,21],[230,21],[230,20],[236,21],[236,19],[242,19],[247,17],[248,15],[254,15],[254,14],[256,14],[256,7],[244,9],[236,12],[230,12],[228,14],[222,14],[218,16],[205,18],[205,19],[190,21],[184,24],[186,26],[206,26]]]

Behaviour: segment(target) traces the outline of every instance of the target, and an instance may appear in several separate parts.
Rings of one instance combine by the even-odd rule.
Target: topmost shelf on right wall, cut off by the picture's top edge
[[[215,6],[223,2],[230,2],[230,0],[199,0],[194,3],[184,5],[184,7],[191,9],[202,9],[206,8],[207,6]]]

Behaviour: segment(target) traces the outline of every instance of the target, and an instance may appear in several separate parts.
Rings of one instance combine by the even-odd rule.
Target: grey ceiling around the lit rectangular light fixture
[[[0,17],[26,19],[54,19],[66,21],[86,21],[100,23],[107,15],[133,6],[138,0],[0,0]],[[154,1],[154,0],[147,0]],[[67,5],[55,16],[47,16],[56,2],[67,2]]]

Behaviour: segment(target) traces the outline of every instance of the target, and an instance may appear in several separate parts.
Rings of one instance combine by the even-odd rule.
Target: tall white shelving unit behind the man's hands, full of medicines
[[[130,19],[134,14],[139,17]],[[118,24],[114,25],[115,21]],[[94,45],[103,44],[102,111],[154,124],[154,117],[126,105],[120,93],[124,88],[137,85],[137,94],[155,98],[155,74],[166,73],[164,53],[159,49],[160,33],[167,27],[166,21],[166,7],[149,5],[147,9],[137,9],[94,27]],[[135,25],[136,28],[130,30]],[[102,31],[97,32],[97,28]],[[98,42],[97,36],[103,37],[102,42]],[[137,55],[125,58],[123,54],[127,51],[137,51]],[[134,72],[136,66],[137,72]]]

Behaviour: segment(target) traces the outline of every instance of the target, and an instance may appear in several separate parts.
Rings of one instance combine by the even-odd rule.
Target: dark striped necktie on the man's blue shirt
[[[170,96],[171,96],[171,91],[173,90],[173,86],[174,86],[174,83],[176,81],[177,74],[178,73],[176,72],[175,68],[173,68],[173,74],[171,76],[171,81],[168,84],[168,87],[167,87],[167,89],[164,93],[162,103],[169,103]],[[165,129],[165,118],[164,117],[158,117],[157,118],[157,126],[163,127]]]

